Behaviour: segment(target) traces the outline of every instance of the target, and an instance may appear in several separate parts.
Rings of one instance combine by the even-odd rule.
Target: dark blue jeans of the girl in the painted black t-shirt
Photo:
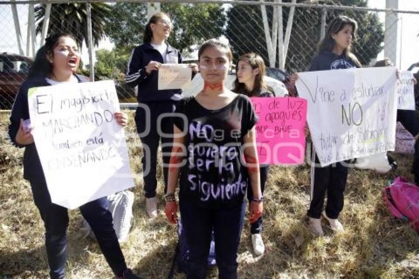
[[[237,279],[237,250],[243,229],[245,203],[229,209],[206,209],[180,199],[179,207],[189,246],[187,278],[206,278],[213,230],[218,277]]]

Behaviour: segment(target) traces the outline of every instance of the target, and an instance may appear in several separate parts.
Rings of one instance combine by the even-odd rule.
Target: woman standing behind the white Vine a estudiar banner
[[[356,56],[350,52],[356,28],[356,22],[347,16],[341,15],[332,19],[327,25],[325,37],[319,43],[318,54],[313,58],[309,71],[362,67]],[[291,80],[295,82],[297,78],[298,75],[293,74]],[[344,206],[348,165],[346,162],[338,162],[321,167],[317,155],[313,155],[311,202],[307,211],[310,229],[315,235],[323,236],[320,223],[323,215],[333,231],[342,232],[344,227],[338,217]],[[327,202],[323,211],[326,192]]]

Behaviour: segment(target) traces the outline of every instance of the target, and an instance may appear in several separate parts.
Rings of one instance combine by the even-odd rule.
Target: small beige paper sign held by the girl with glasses
[[[158,90],[182,89],[192,78],[189,64],[162,64],[159,68]]]

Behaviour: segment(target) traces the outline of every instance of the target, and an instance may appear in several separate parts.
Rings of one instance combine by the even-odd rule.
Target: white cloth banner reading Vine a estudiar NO
[[[321,166],[394,150],[396,68],[298,73],[307,122]]]

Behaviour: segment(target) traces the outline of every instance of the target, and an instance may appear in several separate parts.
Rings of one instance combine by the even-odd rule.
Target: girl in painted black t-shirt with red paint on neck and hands
[[[176,108],[181,117],[174,119],[165,213],[170,222],[177,222],[175,188],[180,172],[180,216],[189,246],[187,278],[206,277],[212,231],[219,277],[237,278],[248,185],[253,192],[250,222],[263,209],[256,116],[246,96],[224,87],[232,61],[229,46],[210,39],[201,46],[198,57],[204,88]]]

